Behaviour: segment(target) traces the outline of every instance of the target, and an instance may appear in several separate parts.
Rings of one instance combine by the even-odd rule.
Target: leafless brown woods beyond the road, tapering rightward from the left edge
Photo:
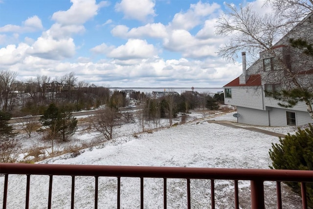
[[[73,72],[51,79],[37,75],[25,81],[17,80],[17,73],[0,71],[0,110],[13,116],[41,115],[51,103],[70,105],[79,111],[105,104],[110,90],[78,81]]]

